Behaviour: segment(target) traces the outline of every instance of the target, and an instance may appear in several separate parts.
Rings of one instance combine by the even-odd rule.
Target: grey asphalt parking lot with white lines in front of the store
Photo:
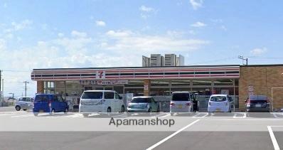
[[[146,116],[148,115],[148,116]],[[0,113],[1,149],[283,149],[283,114]],[[173,127],[114,127],[110,118],[174,119]],[[91,128],[92,127],[92,128]],[[268,128],[272,129],[271,133]],[[274,142],[274,139],[276,142]],[[273,141],[272,141],[273,140]]]

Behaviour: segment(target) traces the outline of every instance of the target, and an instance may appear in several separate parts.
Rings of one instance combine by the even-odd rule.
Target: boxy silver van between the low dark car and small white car
[[[193,98],[190,92],[173,92],[170,102],[170,114],[174,112],[193,112]]]

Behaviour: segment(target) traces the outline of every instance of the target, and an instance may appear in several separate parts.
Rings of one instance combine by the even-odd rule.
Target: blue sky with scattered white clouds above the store
[[[186,65],[282,63],[283,1],[0,1],[6,95],[33,68],[141,66],[176,53]],[[13,72],[11,71],[13,70]],[[28,84],[28,95],[36,83]]]

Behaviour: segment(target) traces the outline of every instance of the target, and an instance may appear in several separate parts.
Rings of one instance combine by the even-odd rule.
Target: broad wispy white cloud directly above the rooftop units
[[[206,45],[209,41],[199,39],[184,39],[180,36],[171,36],[169,31],[164,36],[149,36],[132,31],[108,31],[105,35],[109,40],[103,48],[107,50],[119,50],[128,53],[132,50],[135,53],[173,53],[174,51],[197,50]],[[176,35],[176,33],[173,33]],[[104,42],[105,43],[105,42]]]

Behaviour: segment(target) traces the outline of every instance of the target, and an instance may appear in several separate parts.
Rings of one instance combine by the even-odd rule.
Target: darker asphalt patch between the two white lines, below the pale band
[[[268,132],[181,132],[156,149],[267,150],[274,148]]]

